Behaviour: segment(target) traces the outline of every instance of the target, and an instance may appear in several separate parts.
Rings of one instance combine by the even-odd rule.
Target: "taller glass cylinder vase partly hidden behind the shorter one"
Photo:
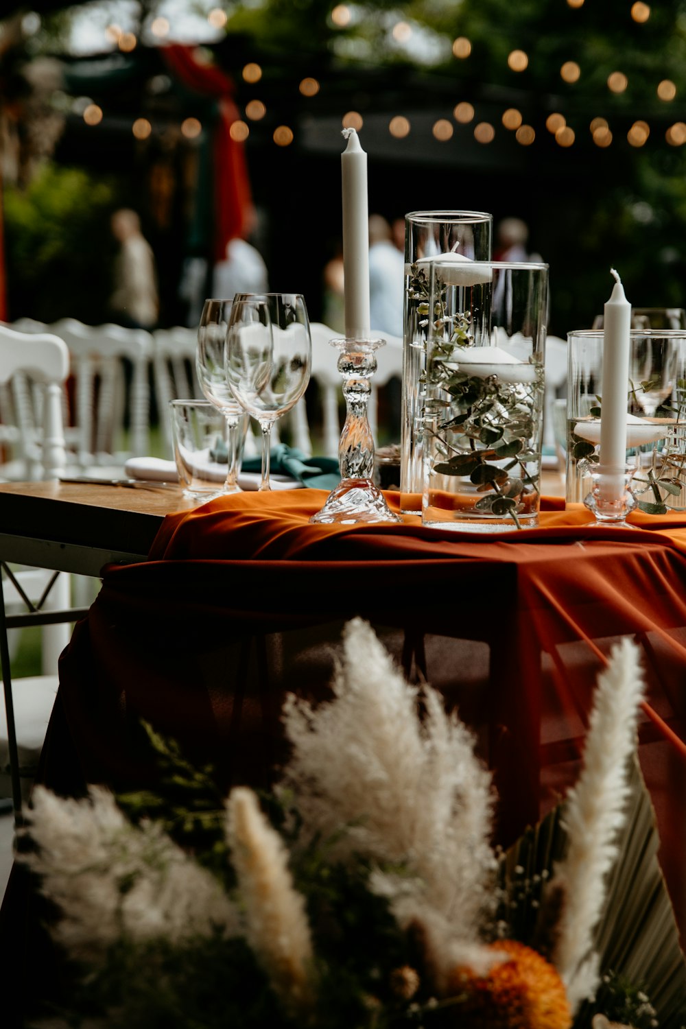
[[[490,260],[493,215],[412,211],[405,215],[400,506],[420,514],[424,482],[424,400],[429,268],[436,257]]]

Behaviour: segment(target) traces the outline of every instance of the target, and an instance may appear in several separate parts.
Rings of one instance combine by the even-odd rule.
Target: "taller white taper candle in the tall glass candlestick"
[[[354,129],[344,129],[342,135],[348,139],[348,146],[340,155],[346,336],[368,340],[371,329],[367,155]]]

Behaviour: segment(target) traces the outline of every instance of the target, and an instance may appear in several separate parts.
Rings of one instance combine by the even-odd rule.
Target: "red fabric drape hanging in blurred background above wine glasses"
[[[252,211],[252,194],[243,143],[231,138],[231,125],[239,119],[233,102],[233,83],[214,65],[202,64],[194,48],[170,43],[160,50],[172,74],[188,90],[214,98],[219,118],[213,135],[214,260],[226,256],[226,244],[243,236]]]

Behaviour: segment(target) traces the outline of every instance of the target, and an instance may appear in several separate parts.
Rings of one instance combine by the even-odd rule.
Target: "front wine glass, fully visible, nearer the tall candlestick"
[[[312,335],[299,293],[237,293],[226,331],[226,381],[262,430],[262,476],[269,490],[269,439],[310,382]]]

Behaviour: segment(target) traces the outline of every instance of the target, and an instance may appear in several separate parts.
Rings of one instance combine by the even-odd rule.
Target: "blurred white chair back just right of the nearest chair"
[[[151,333],[109,323],[85,325],[74,318],[61,319],[50,331],[67,344],[71,359],[74,424],[67,429],[71,460],[80,474],[122,474],[128,458],[149,451]],[[125,360],[132,367],[128,431]]]

